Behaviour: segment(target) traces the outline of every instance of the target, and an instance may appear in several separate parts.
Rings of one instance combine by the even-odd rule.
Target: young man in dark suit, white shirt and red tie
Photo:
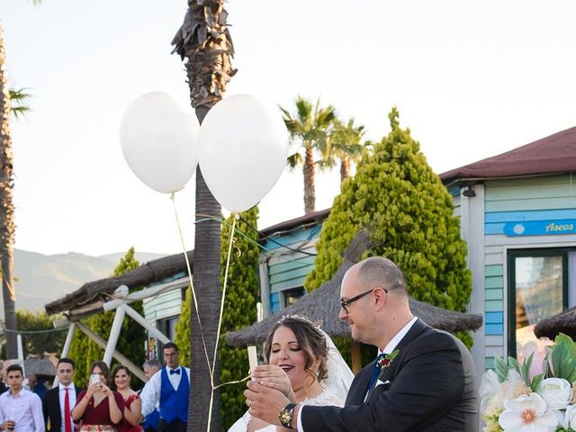
[[[47,431],[72,432],[74,430],[70,412],[76,406],[76,395],[81,390],[72,382],[74,369],[75,363],[71,358],[62,357],[58,360],[56,366],[58,386],[46,392],[42,400]]]

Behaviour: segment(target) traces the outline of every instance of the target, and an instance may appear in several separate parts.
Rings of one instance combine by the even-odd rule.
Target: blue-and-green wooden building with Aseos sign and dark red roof
[[[576,305],[576,128],[448,171],[473,273],[477,372],[542,352],[536,324]],[[480,376],[480,375],[479,375]]]

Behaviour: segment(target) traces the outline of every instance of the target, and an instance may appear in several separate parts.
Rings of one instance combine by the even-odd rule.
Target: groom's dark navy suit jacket
[[[474,365],[464,344],[417,320],[395,349],[367,401],[374,362],[356,374],[345,408],[302,407],[304,431],[477,432]]]

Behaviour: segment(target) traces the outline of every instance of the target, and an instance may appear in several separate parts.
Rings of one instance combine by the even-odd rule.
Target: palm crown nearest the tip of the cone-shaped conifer
[[[329,146],[322,154],[320,164],[323,166],[336,166],[340,164],[340,184],[350,177],[352,163],[358,162],[367,150],[362,137],[365,134],[364,126],[354,124],[354,117],[347,122],[336,119],[334,129],[330,134]]]

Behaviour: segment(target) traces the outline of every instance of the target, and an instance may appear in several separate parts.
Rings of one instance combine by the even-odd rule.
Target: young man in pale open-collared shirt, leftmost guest
[[[21,365],[6,370],[9,392],[0,394],[0,429],[14,432],[45,432],[40,397],[23,388]]]

